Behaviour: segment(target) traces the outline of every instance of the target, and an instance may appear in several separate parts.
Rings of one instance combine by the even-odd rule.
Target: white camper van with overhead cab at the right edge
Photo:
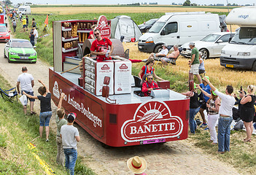
[[[232,9],[225,21],[240,28],[229,44],[222,48],[220,65],[256,71],[256,7]]]

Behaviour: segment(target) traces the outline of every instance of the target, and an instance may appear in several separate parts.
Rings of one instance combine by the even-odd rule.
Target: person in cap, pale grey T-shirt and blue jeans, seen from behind
[[[71,175],[74,175],[74,166],[77,161],[77,142],[80,141],[78,130],[73,126],[76,117],[77,114],[69,113],[68,124],[61,127],[61,139],[66,160],[65,167]]]

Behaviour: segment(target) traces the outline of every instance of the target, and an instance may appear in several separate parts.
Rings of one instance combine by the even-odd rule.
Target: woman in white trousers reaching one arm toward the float
[[[220,117],[219,109],[220,109],[220,98],[218,98],[217,94],[214,93],[211,90],[211,95],[209,93],[206,93],[206,91],[202,90],[199,85],[197,87],[201,90],[201,92],[209,97],[209,100],[206,103],[206,106],[208,108],[208,126],[210,131],[210,136],[212,141],[212,144],[217,144],[217,132],[215,129],[215,126],[217,124],[217,120]]]

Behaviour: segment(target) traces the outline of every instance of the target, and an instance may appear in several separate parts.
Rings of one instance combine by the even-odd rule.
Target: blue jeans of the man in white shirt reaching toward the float
[[[230,125],[233,117],[221,117],[218,124],[218,151],[229,151],[230,145]]]

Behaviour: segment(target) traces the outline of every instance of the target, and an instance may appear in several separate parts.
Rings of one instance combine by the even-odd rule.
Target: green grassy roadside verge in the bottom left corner
[[[0,86],[3,89],[10,87],[1,76]],[[0,98],[0,123],[0,174],[44,174],[44,169],[28,147],[29,142],[39,136],[39,116],[25,115],[20,103],[10,103]],[[42,139],[33,141],[39,157],[48,163],[55,174],[66,174],[65,169],[55,163],[57,147],[53,131],[50,131],[49,138],[50,141],[46,142],[44,133]],[[90,168],[82,165],[81,160],[81,157],[77,159],[75,174],[94,174]]]

